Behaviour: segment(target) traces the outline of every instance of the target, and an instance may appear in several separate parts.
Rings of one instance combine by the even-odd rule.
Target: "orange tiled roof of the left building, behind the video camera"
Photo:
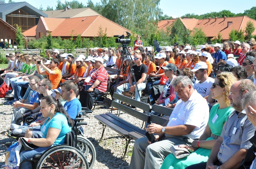
[[[106,29],[107,37],[113,35],[122,35],[126,31],[124,27],[104,18],[101,15],[79,17],[79,18],[67,18],[51,33],[52,36],[70,37],[73,31],[73,35],[81,34],[82,37],[97,37],[99,36],[99,28],[102,28],[103,33]],[[130,32],[130,31],[129,31]]]

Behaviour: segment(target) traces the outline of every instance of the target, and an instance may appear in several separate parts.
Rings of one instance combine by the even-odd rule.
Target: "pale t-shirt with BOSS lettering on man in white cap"
[[[201,96],[205,97],[208,96],[209,93],[211,92],[210,89],[212,87],[212,83],[214,83],[214,79],[211,77],[208,77],[204,82],[199,83],[200,81],[196,80],[194,83],[193,88],[197,90]]]

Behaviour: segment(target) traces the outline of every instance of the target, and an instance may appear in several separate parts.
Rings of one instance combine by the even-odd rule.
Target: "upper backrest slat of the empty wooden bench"
[[[151,106],[149,104],[145,104],[143,102],[140,102],[138,100],[132,99],[130,97],[126,97],[124,95],[114,93],[113,94],[113,98],[118,99],[118,100],[122,100],[123,102],[125,102],[125,103],[127,103],[129,105],[135,106],[137,108],[140,108],[140,109],[142,109],[144,111],[151,112]]]

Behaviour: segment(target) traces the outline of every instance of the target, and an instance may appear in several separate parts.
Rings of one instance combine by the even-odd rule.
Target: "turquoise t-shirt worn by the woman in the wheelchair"
[[[71,131],[71,127],[68,125],[67,117],[62,113],[56,113],[51,120],[48,117],[46,122],[41,127],[43,138],[46,138],[49,128],[55,128],[61,130],[53,145],[64,144],[65,136]]]

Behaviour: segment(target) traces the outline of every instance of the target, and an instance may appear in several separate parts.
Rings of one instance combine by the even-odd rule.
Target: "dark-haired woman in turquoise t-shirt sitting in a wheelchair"
[[[65,136],[71,131],[74,121],[69,117],[66,110],[61,105],[60,100],[53,96],[45,96],[41,100],[41,113],[43,117],[48,117],[41,122],[42,138],[25,138],[26,141],[39,146],[39,148],[20,152],[20,161],[32,158],[37,154],[42,154],[48,148],[64,144]],[[21,168],[32,168],[30,161],[22,163]]]

